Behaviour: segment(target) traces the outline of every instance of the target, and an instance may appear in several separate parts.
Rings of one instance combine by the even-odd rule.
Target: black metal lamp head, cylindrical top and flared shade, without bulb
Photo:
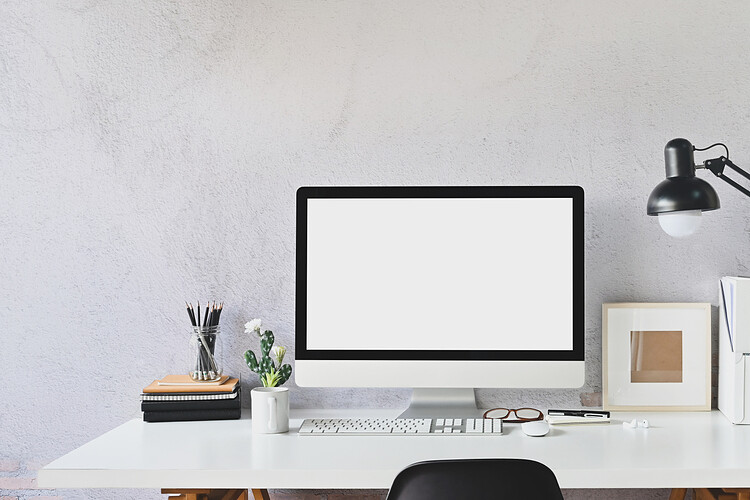
[[[719,195],[711,185],[695,176],[693,145],[687,139],[672,139],[664,147],[667,178],[648,197],[646,213],[659,215],[681,210],[716,210]]]

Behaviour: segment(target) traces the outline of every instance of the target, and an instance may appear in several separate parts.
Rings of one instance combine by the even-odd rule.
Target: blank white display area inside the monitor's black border
[[[307,203],[308,349],[573,348],[571,199]]]

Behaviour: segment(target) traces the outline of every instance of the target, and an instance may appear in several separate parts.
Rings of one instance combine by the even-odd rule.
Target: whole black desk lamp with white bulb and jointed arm
[[[727,152],[726,156],[712,158],[696,165],[693,151],[706,151],[714,146],[722,146]],[[646,213],[658,215],[659,224],[670,236],[682,238],[693,234],[700,226],[701,213],[716,210],[721,206],[719,195],[714,188],[695,176],[696,169],[710,170],[719,179],[750,196],[749,190],[724,175],[724,167],[729,167],[750,180],[750,174],[729,161],[729,149],[722,143],[699,149],[687,139],[672,139],[664,147],[664,161],[667,178],[651,191]]]

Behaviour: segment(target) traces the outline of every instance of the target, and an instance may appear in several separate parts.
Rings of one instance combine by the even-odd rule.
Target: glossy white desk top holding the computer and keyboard
[[[44,467],[42,488],[387,489],[410,463],[520,457],[547,464],[562,488],[750,487],[750,426],[719,412],[613,413],[611,424],[518,424],[500,437],[299,436],[302,418],[395,417],[397,410],[292,410],[290,432],[253,435],[240,420],[131,420]],[[646,418],[648,429],[621,422]]]

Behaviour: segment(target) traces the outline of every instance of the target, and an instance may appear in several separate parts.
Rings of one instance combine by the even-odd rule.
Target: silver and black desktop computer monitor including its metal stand
[[[578,186],[302,187],[295,380],[410,387],[405,416],[580,387],[583,288]]]

